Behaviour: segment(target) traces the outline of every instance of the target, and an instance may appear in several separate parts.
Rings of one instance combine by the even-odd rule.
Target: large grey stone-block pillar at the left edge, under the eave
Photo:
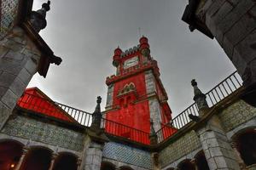
[[[0,129],[36,73],[39,59],[40,52],[20,27],[0,41]]]

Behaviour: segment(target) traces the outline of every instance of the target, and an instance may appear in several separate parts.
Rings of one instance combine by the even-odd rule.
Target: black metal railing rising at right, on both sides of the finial
[[[238,75],[237,71],[233,72],[229,77],[225,78],[224,81],[219,82],[217,86],[212,88],[207,94],[207,104],[209,107],[218,104],[221,100],[225,99],[230,94],[234,93],[238,88],[241,88],[242,80]],[[199,116],[197,105],[194,103],[189,105],[187,109],[182,111],[179,115],[172,119],[172,122],[167,126],[168,128],[174,128],[176,133],[180,128],[191,122],[189,115]],[[157,131],[158,141],[161,142],[171,135],[166,135],[166,127],[162,127]],[[173,134],[173,133],[170,133]]]

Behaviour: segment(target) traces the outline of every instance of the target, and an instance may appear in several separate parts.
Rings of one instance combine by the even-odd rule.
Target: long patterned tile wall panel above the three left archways
[[[52,144],[69,150],[82,151],[84,149],[85,137],[83,133],[46,122],[39,122],[26,116],[12,116],[1,133]]]

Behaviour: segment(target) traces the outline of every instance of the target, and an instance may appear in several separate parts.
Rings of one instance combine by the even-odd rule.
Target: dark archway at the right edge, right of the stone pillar
[[[240,152],[241,159],[249,166],[256,163],[256,131],[248,130],[236,138],[236,147]]]

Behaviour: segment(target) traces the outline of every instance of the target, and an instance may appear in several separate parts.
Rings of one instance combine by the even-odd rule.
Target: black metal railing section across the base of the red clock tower
[[[129,127],[119,122],[113,122],[105,118],[102,118],[101,126],[105,129],[106,133],[112,134],[114,136],[123,137],[142,144],[150,143],[149,133],[134,127]]]

